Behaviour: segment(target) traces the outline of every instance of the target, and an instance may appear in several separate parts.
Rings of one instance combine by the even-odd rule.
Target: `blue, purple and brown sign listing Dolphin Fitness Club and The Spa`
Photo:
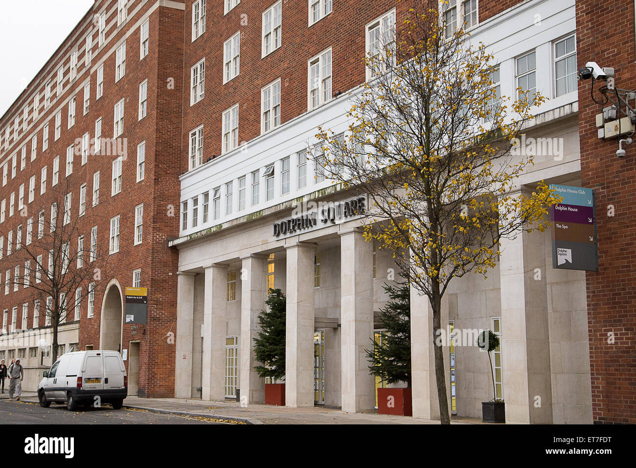
[[[563,198],[550,209],[552,267],[598,271],[598,243],[594,190],[550,185]]]

